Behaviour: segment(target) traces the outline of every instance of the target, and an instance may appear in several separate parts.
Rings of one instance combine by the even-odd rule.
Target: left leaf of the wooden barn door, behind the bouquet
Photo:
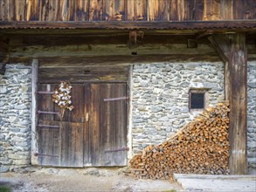
[[[59,85],[38,87],[38,161],[44,166],[83,167],[84,86],[73,85],[74,109],[66,110],[52,102],[52,93]]]

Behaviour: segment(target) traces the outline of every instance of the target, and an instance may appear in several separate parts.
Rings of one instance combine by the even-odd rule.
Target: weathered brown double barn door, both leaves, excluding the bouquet
[[[126,84],[73,85],[72,112],[52,102],[59,85],[38,87],[38,161],[42,166],[126,166]]]

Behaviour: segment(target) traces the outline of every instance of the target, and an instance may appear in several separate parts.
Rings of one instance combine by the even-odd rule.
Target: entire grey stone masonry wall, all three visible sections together
[[[221,62],[136,64],[132,89],[134,153],[159,144],[192,120],[190,88],[209,88],[209,104],[224,99]],[[256,61],[248,62],[249,171],[256,169]],[[0,75],[0,172],[30,164],[31,66],[6,65]]]

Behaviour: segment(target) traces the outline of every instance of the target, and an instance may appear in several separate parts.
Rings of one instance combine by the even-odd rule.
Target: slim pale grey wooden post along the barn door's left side
[[[32,105],[31,105],[31,164],[38,165],[38,59],[34,58],[31,64],[32,73]]]

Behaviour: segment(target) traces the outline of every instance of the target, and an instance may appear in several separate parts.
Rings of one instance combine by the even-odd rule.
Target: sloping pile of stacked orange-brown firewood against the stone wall
[[[204,110],[168,141],[148,146],[130,163],[136,178],[168,179],[176,174],[228,174],[228,104]]]

